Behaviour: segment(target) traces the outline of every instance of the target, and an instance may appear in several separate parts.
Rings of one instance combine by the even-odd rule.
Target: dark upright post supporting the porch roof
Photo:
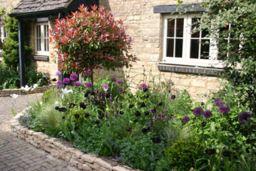
[[[18,19],[18,36],[19,36],[19,60],[20,60],[20,87],[25,86],[25,56],[24,56],[24,30],[23,20]]]

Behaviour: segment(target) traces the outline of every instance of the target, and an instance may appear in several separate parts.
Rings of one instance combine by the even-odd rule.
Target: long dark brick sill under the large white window
[[[211,76],[218,76],[222,69],[218,68],[204,68],[196,66],[177,66],[177,65],[168,65],[168,64],[158,64],[158,70],[162,72],[180,72],[187,74],[204,74]]]

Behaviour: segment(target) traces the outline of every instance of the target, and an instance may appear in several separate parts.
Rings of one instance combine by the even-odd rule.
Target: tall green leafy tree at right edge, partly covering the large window
[[[204,0],[200,29],[210,30],[224,61],[222,78],[241,105],[256,113],[256,4],[253,0]]]

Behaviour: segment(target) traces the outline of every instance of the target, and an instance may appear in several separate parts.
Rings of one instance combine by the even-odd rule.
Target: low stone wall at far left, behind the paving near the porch
[[[7,97],[12,94],[17,94],[17,95],[27,95],[27,94],[33,94],[33,93],[43,93],[49,88],[56,87],[56,85],[49,85],[43,86],[43,87],[36,87],[33,91],[24,91],[22,89],[3,89],[0,91],[0,97]]]

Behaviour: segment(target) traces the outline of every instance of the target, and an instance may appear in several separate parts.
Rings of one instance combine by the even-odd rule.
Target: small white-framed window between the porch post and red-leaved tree
[[[35,51],[36,54],[48,54],[49,52],[49,25],[40,23],[35,25]]]

